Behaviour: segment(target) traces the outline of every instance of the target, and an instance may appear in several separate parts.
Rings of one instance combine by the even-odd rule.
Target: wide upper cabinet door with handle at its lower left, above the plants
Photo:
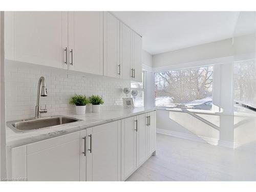
[[[69,12],[69,69],[103,75],[103,12]]]

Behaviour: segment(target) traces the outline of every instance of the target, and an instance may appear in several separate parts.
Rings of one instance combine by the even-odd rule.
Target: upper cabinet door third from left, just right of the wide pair
[[[119,77],[119,20],[104,12],[104,75]]]

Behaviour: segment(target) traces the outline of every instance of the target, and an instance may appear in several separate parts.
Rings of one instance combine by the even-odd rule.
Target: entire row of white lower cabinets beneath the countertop
[[[12,178],[124,181],[156,150],[156,112],[11,149]]]

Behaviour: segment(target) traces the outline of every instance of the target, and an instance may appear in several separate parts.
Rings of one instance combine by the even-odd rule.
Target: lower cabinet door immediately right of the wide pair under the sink
[[[122,181],[136,169],[136,117],[122,120]]]

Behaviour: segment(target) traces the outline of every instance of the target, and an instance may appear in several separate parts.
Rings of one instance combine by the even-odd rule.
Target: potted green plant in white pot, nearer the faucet
[[[73,97],[71,97],[69,103],[76,105],[77,115],[84,115],[86,114],[86,105],[90,103],[90,100],[85,95],[75,94]]]

